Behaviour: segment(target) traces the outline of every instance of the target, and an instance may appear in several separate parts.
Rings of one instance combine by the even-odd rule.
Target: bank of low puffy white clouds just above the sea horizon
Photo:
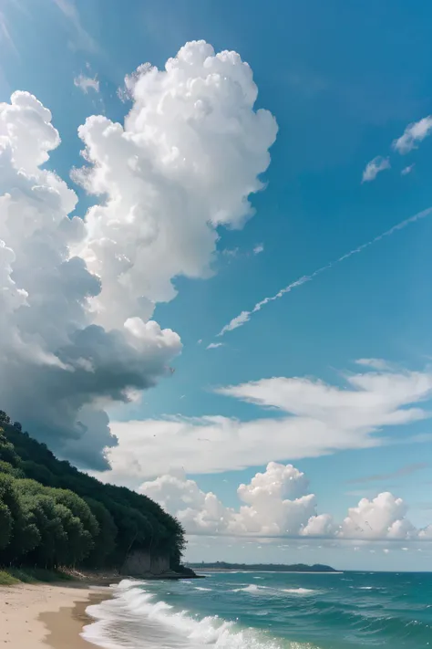
[[[432,539],[432,526],[416,529],[406,518],[406,503],[388,492],[371,500],[362,498],[342,523],[336,524],[330,514],[317,514],[317,498],[309,493],[306,476],[292,465],[275,462],[253,476],[248,485],[240,485],[238,508],[225,508],[213,493],[203,492],[194,480],[180,473],[145,482],[139,493],[177,516],[188,534],[364,543]]]

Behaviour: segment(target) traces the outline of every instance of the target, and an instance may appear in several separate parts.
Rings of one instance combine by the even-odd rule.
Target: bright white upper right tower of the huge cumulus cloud
[[[124,127],[93,116],[78,130],[90,166],[74,177],[107,200],[89,210],[77,253],[101,277],[92,308],[108,326],[131,311],[149,318],[176,295],[173,277],[209,275],[216,228],[252,215],[248,195],[262,189],[276,136],[272,114],[253,110],[252,70],[235,52],[188,43],[165,68],[129,82]]]

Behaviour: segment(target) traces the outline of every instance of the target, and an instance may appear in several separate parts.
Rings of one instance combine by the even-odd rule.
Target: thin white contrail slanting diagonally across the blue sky
[[[354,248],[354,250],[350,250],[350,252],[346,253],[343,256],[338,257],[334,261],[331,261],[326,266],[318,268],[311,275],[303,275],[303,277],[299,277],[299,279],[296,279],[292,284],[289,284],[285,288],[281,288],[281,290],[278,293],[276,293],[276,295],[273,295],[271,298],[264,298],[261,300],[261,302],[257,302],[251,311],[242,311],[240,315],[231,319],[231,322],[229,322],[227,325],[222,327],[221,331],[218,333],[218,336],[223,336],[225,333],[227,333],[227,331],[232,331],[234,329],[238,329],[239,327],[242,327],[243,324],[249,322],[253,313],[256,313],[257,311],[261,311],[262,307],[264,307],[269,302],[273,302],[275,299],[282,298],[285,295],[285,293],[291,293],[293,288],[301,287],[306,282],[310,282],[318,275],[324,273],[325,270],[330,270],[330,268],[333,268],[334,266],[336,266],[336,264],[340,264],[342,261],[345,261],[345,259],[348,259],[350,256],[357,255],[358,253],[365,250],[365,248],[368,248],[369,246],[373,246],[373,244],[377,243],[378,241],[381,241],[381,239],[386,238],[386,236],[393,235],[396,232],[396,230],[403,230],[404,227],[406,227],[406,225],[416,223],[416,221],[419,221],[421,218],[425,218],[431,213],[432,213],[432,207],[428,207],[427,210],[424,210],[423,212],[418,212],[417,215],[411,216],[410,218],[407,218],[405,221],[401,221],[401,223],[398,223],[397,225],[393,225],[393,227],[391,227],[389,230],[386,230],[386,232],[383,232],[381,235],[375,236],[375,238],[371,239],[365,244],[362,244],[361,246],[358,246],[357,248]]]

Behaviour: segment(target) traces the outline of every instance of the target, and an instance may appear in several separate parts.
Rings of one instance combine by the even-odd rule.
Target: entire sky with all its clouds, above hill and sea
[[[430,569],[430,18],[0,0],[0,406],[187,560]]]

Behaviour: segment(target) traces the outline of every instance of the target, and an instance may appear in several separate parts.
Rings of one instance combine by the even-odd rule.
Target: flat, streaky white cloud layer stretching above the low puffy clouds
[[[431,416],[420,404],[432,396],[432,373],[348,374],[340,387],[280,377],[218,392],[272,408],[274,416],[259,414],[244,422],[220,414],[113,422],[118,446],[108,450],[107,479],[136,486],[147,476],[182,466],[190,473],[213,473],[389,444],[386,426]]]

